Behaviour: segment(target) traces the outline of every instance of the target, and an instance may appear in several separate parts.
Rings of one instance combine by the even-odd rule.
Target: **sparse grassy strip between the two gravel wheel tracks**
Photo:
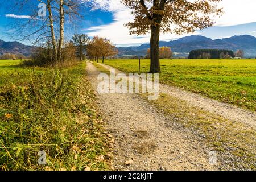
[[[146,96],[143,96],[147,100]],[[205,138],[219,160],[237,169],[256,169],[256,132],[240,122],[233,122],[201,110],[186,101],[161,93],[158,100],[147,100],[184,127],[191,127]]]

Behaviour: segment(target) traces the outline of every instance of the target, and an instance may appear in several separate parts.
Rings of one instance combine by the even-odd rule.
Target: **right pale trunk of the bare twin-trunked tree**
[[[64,3],[63,0],[60,0],[60,40],[58,48],[58,61],[60,63],[62,57],[62,47],[64,43]]]

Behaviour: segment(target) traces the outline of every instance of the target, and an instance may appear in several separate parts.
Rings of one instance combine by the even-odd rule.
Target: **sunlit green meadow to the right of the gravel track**
[[[138,72],[138,60],[105,60],[123,72]],[[160,60],[160,82],[204,96],[256,110],[256,60]],[[141,60],[148,72],[150,60]]]

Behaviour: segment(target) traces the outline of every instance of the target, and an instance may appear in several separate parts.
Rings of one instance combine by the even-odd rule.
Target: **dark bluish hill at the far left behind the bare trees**
[[[26,46],[19,42],[5,42],[0,40],[0,54],[4,53],[22,53],[25,56],[28,56],[34,50],[34,46]]]

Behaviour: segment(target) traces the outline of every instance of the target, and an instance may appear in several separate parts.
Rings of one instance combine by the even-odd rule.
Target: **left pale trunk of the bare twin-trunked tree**
[[[56,38],[55,38],[55,31],[54,31],[54,26],[53,26],[53,15],[52,15],[52,6],[51,2],[47,0],[47,9],[49,12],[49,23],[51,27],[51,39],[52,39],[52,48],[53,48],[53,64],[56,64],[57,61],[57,43],[56,43]]]

